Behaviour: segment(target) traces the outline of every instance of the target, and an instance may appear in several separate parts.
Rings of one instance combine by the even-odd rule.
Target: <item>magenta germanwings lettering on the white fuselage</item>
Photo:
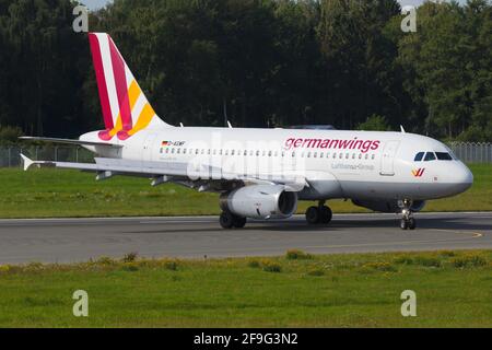
[[[290,138],[285,141],[284,148],[292,149],[323,149],[323,150],[360,150],[362,153],[375,151],[379,148],[380,141],[374,140],[352,140],[340,139],[301,139]]]

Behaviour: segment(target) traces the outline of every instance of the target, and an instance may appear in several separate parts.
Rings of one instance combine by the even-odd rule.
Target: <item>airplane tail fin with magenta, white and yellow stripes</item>
[[[127,140],[149,126],[172,127],[157,117],[112,37],[90,33],[89,40],[106,127],[101,140]]]

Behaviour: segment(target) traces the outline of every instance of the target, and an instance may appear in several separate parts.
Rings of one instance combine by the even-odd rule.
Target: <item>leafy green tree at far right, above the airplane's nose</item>
[[[417,34],[402,36],[399,58],[421,131],[485,139],[491,96],[491,5],[426,2]],[[480,136],[482,135],[482,136]]]

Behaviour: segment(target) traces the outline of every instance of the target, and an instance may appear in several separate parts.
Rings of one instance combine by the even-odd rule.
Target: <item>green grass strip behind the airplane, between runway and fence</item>
[[[467,192],[430,201],[426,211],[492,210],[492,165],[470,166],[476,182]],[[151,187],[150,180],[115,177],[95,182],[93,174],[37,170],[0,170],[0,218],[133,217],[218,214],[218,195],[176,185]],[[304,212],[312,202],[301,202]],[[333,212],[367,212],[350,201],[332,200]]]

